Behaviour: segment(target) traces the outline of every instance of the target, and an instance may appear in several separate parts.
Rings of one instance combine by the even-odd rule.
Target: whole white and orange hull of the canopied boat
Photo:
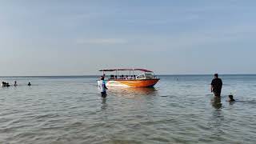
[[[158,83],[159,79],[114,79],[106,80],[106,86],[119,87],[152,87]]]

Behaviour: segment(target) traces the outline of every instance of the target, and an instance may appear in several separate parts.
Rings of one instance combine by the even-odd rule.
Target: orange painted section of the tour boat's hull
[[[150,87],[150,86],[154,86],[159,81],[159,79],[115,80],[115,81],[130,87]]]

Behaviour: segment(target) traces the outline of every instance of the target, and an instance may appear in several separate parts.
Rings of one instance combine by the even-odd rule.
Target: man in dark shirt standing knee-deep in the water
[[[218,74],[214,74],[214,79],[211,82],[211,92],[214,92],[215,97],[221,97],[222,93],[222,79],[218,78]]]

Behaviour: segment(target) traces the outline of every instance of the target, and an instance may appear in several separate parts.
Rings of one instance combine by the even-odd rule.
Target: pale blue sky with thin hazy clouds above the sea
[[[254,0],[0,0],[0,75],[256,74]]]

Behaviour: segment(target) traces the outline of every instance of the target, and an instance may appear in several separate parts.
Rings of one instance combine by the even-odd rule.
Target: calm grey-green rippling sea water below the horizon
[[[256,75],[222,75],[221,103],[211,75],[160,78],[106,99],[95,76],[0,78],[0,143],[256,143]]]

